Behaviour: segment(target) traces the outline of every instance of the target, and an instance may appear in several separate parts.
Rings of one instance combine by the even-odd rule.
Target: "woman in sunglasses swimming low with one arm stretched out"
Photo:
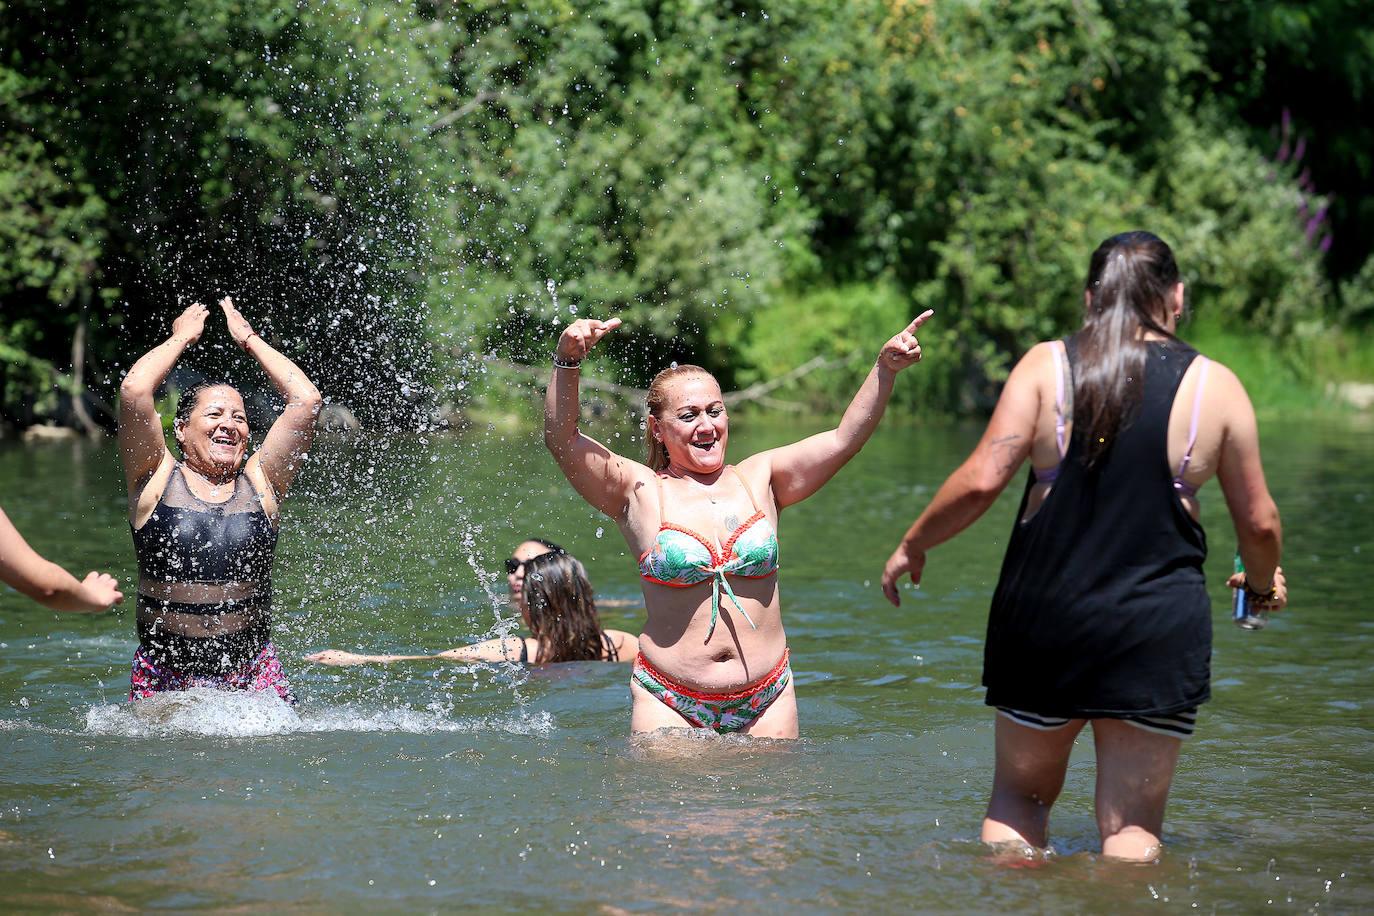
[[[625,630],[602,628],[587,570],[572,553],[544,541],[522,542],[506,560],[511,602],[530,636],[507,636],[460,645],[433,655],[360,655],[326,650],[306,655],[322,665],[364,665],[444,658],[455,662],[628,662],[639,639]]]

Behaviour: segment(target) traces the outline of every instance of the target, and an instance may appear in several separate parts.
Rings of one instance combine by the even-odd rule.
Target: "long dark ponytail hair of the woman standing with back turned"
[[[1134,419],[1145,387],[1145,331],[1173,338],[1160,319],[1179,282],[1173,251],[1151,232],[1123,232],[1088,261],[1088,313],[1079,331],[1073,372],[1074,435],[1083,461],[1096,464]]]

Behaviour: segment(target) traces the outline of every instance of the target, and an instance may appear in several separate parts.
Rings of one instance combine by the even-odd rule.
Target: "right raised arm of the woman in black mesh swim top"
[[[291,489],[291,479],[301,467],[305,453],[311,450],[311,442],[315,441],[315,416],[320,412],[320,391],[295,363],[253,330],[243,313],[234,308],[229,297],[220,299],[220,308],[224,309],[224,321],[234,342],[258,361],[278,393],[286,400],[286,409],[272,423],[262,446],[253,453],[245,468],[251,474],[257,464],[276,499],[283,499]]]

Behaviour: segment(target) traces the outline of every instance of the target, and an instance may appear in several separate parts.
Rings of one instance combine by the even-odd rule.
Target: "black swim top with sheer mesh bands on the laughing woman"
[[[276,527],[247,477],[235,478],[228,500],[206,503],[177,461],[153,514],[132,530],[144,655],[202,676],[257,658],[272,632]]]

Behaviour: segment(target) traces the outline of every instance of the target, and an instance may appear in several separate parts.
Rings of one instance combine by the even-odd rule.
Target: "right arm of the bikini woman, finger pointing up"
[[[800,503],[819,490],[855,455],[859,455],[859,449],[878,428],[878,422],[892,397],[897,372],[921,361],[916,331],[932,314],[934,312],[929,309],[922,312],[882,345],[877,363],[845,409],[840,426],[750,459],[750,461],[768,461],[779,508]]]

